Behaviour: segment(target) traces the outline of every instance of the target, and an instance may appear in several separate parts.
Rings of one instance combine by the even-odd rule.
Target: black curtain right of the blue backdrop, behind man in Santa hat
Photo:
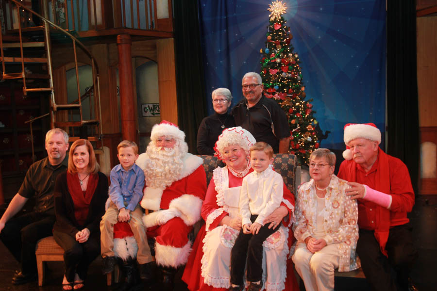
[[[413,189],[419,183],[416,1],[387,1],[387,153],[401,159]]]

